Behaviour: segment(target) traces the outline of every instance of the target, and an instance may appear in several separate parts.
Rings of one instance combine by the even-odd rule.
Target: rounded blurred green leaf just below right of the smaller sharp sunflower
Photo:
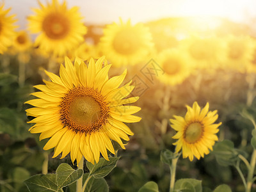
[[[217,142],[213,147],[217,162],[222,166],[235,165],[239,150],[234,148],[234,143],[229,140]]]

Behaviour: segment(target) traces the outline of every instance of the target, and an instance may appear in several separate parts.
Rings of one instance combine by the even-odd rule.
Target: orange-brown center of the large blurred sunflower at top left
[[[45,17],[42,28],[49,38],[61,39],[70,31],[70,21],[61,13],[51,13]]]

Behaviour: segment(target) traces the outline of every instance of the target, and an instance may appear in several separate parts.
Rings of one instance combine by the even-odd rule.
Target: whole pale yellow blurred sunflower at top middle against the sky
[[[115,65],[135,65],[145,60],[151,51],[152,36],[143,24],[132,26],[131,20],[125,24],[108,25],[100,38],[100,49]]]

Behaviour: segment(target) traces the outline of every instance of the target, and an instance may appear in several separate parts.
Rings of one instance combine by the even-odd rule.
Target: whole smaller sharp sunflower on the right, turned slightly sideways
[[[209,149],[215,141],[218,140],[216,133],[221,125],[214,124],[217,120],[217,111],[209,111],[207,103],[204,109],[200,109],[197,102],[194,102],[193,108],[187,106],[188,112],[185,118],[182,116],[174,116],[175,119],[170,119],[172,128],[177,131],[173,139],[177,139],[173,145],[176,145],[175,152],[182,149],[183,158],[189,157],[193,161],[194,156],[197,159],[204,157],[204,154],[209,154]]]

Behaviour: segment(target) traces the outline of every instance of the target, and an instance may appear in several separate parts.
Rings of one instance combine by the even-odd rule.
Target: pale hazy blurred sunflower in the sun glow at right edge
[[[230,35],[225,38],[226,49],[223,62],[228,67],[244,72],[253,60],[253,48],[255,42],[250,36],[234,36]]]

